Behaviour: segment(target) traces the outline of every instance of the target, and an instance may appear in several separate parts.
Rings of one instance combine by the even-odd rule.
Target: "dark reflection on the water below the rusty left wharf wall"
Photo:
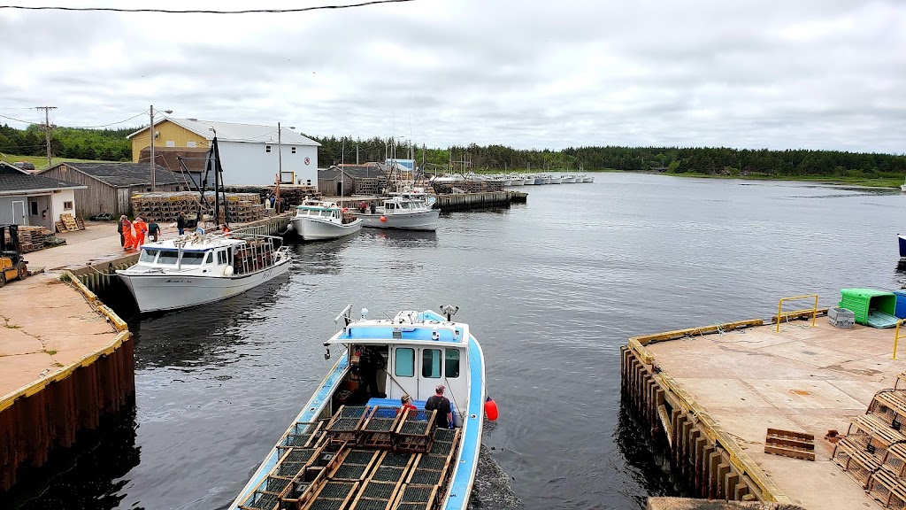
[[[130,483],[124,476],[139,465],[137,428],[132,399],[119,414],[101,420],[97,430],[80,436],[76,446],[55,452],[41,469],[20,471],[20,483],[13,491],[0,492],[0,508],[116,508]]]

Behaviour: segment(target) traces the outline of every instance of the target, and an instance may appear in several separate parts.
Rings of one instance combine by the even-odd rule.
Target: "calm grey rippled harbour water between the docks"
[[[282,280],[133,320],[134,416],[49,481],[33,476],[18,504],[223,508],[330,368],[321,342],[345,305],[374,317],[452,303],[501,410],[485,442],[525,507],[641,508],[681,491],[621,408],[626,338],[906,281],[906,198],[890,193],[616,173],[525,191],[525,206],[450,214],[436,234],[299,245]]]

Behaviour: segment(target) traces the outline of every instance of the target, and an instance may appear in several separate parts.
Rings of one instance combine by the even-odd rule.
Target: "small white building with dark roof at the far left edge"
[[[86,186],[33,175],[0,162],[0,225],[34,225],[54,231],[61,214],[75,215],[75,192]]]

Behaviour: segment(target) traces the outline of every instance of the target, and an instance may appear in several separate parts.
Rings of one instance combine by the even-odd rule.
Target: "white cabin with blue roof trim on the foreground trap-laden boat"
[[[349,355],[350,369],[341,385],[345,391],[334,395],[334,408],[400,407],[400,397],[409,394],[413,405],[423,409],[435,387],[444,385],[459,426],[468,402],[468,335],[466,324],[415,311],[391,320],[352,322],[324,344],[342,344]]]

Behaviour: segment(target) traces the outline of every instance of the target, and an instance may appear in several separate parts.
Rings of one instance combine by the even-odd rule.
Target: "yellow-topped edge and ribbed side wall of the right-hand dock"
[[[819,309],[826,315],[827,309]],[[651,436],[663,437],[671,450],[679,476],[708,499],[791,503],[779,487],[727,434],[718,422],[674,378],[658,368],[645,346],[654,342],[694,338],[745,329],[780,320],[805,319],[807,313],[781,318],[749,319],[702,328],[677,329],[632,337],[621,347],[622,389],[638,416],[651,427]]]

